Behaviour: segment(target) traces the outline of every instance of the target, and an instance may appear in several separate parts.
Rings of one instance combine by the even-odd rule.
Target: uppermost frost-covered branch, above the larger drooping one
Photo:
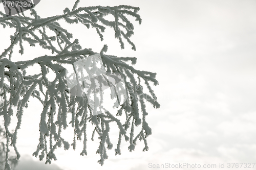
[[[123,10],[125,9],[125,10]],[[132,11],[133,10],[133,11]],[[0,59],[5,57],[8,52],[11,52],[11,49],[14,47],[16,43],[19,42],[20,45],[20,54],[24,53],[23,48],[23,40],[26,40],[30,43],[31,46],[34,46],[36,43],[39,43],[43,48],[46,48],[48,50],[52,50],[52,53],[60,53],[56,48],[51,44],[51,41],[55,41],[56,39],[61,42],[59,43],[59,47],[61,50],[61,43],[66,42],[67,44],[70,44],[70,38],[72,38],[72,34],[69,33],[67,30],[60,27],[59,23],[57,22],[60,19],[65,19],[68,23],[79,23],[81,22],[83,25],[86,25],[88,28],[91,26],[96,29],[97,33],[100,36],[101,41],[103,40],[102,33],[105,30],[105,26],[111,27],[115,30],[116,34],[115,37],[121,40],[121,35],[133,46],[132,49],[136,50],[134,43],[130,40],[130,36],[134,33],[134,27],[132,23],[124,16],[131,15],[136,18],[137,21],[139,21],[139,24],[141,24],[141,18],[137,13],[139,8],[131,7],[131,6],[118,6],[118,7],[83,7],[78,8],[76,10],[70,11],[68,8],[63,10],[65,14],[57,15],[57,16],[51,16],[47,18],[40,18],[39,15],[37,15],[35,10],[31,10],[31,15],[34,16],[34,18],[30,17],[24,17],[24,16],[9,16],[9,17],[2,17],[0,18],[0,23],[6,27],[6,25],[9,25],[10,27],[16,28],[16,33],[14,36],[11,36],[11,44],[10,46],[0,55]],[[83,13],[84,12],[84,13]],[[5,16],[3,13],[1,13],[2,16]],[[103,16],[106,15],[113,15],[115,17],[115,21],[109,21],[103,18]],[[72,19],[74,18],[74,19]],[[124,22],[119,22],[119,19]],[[98,23],[98,22],[101,23]],[[23,26],[23,27],[22,27]],[[122,27],[125,29],[126,34],[121,31],[119,27]],[[56,33],[56,36],[54,37],[48,37],[45,33],[45,31],[41,31],[41,28],[49,28],[50,30],[54,31]],[[39,30],[39,34],[42,36],[42,38],[39,38],[37,35],[35,35],[34,31]],[[31,36],[31,37],[27,37]],[[120,41],[121,46],[123,48],[123,42]],[[74,45],[74,48],[80,48],[79,45]],[[11,53],[10,53],[11,57]]]

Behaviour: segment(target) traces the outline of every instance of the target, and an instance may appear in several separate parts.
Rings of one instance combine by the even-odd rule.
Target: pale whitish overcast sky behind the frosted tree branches
[[[41,0],[35,10],[41,17],[59,15],[66,7],[72,9],[74,2]],[[107,152],[109,159],[103,166],[97,163],[100,155],[95,154],[97,137],[88,140],[88,156],[79,155],[82,148],[78,145],[76,151],[58,149],[58,160],[43,165],[39,158],[32,158],[38,144],[42,106],[31,98],[18,131],[17,147],[22,157],[16,170],[146,170],[152,169],[149,163],[216,164],[215,169],[225,163],[221,169],[230,169],[227,163],[256,163],[256,1],[95,0],[82,1],[79,7],[96,5],[140,7],[142,24],[132,20],[135,34],[131,40],[136,52],[126,41],[121,50],[110,28],[101,42],[94,30],[80,25],[68,27],[83,48],[99,52],[103,44],[108,44],[106,54],[137,57],[135,68],[157,72],[159,85],[153,89],[161,106],[154,109],[147,105],[146,119],[153,130],[147,138],[150,149],[142,152],[144,143],[138,141],[131,153],[127,149],[129,142],[122,139],[121,155],[115,156],[118,128],[114,126],[114,146]],[[2,6],[0,10],[4,12]],[[2,53],[14,30],[1,26],[0,31]],[[46,54],[38,46],[30,49],[24,56],[16,53],[13,59],[27,60]],[[66,136],[72,141],[72,130]],[[256,169],[256,165],[250,169]]]

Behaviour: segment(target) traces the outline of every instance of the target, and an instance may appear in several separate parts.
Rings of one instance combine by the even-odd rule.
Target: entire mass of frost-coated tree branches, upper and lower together
[[[95,28],[101,40],[103,40],[102,33],[105,27],[109,26],[114,29],[114,36],[119,40],[121,48],[124,48],[123,39],[126,39],[132,45],[132,49],[136,50],[134,43],[130,40],[131,35],[134,33],[134,26],[125,15],[131,15],[141,23],[141,18],[137,14],[139,8],[125,5],[77,8],[78,2],[76,1],[72,10],[66,8],[63,11],[64,14],[47,18],[41,18],[34,9],[31,9],[32,17],[25,16],[24,13],[23,16],[18,14],[18,16],[6,17],[5,14],[0,12],[2,15],[0,24],[5,28],[8,26],[16,29],[15,34],[10,36],[10,46],[0,55],[0,89],[2,89],[0,95],[4,101],[0,106],[0,116],[3,115],[4,117],[7,151],[9,151],[9,147],[13,147],[17,159],[20,157],[16,148],[17,131],[22,123],[24,108],[28,107],[28,101],[31,97],[39,100],[43,106],[40,114],[39,143],[33,156],[38,156],[40,160],[46,158],[46,163],[51,163],[52,160],[57,159],[55,150],[57,147],[61,147],[62,144],[65,150],[68,150],[70,146],[75,149],[76,140],[83,140],[81,155],[87,155],[87,123],[95,126],[91,139],[94,140],[96,132],[99,135],[100,143],[96,153],[100,154],[98,162],[101,165],[108,158],[106,148],[113,148],[109,137],[111,122],[114,122],[119,128],[118,144],[115,149],[116,155],[121,154],[120,144],[122,137],[130,142],[130,151],[135,149],[138,138],[144,141],[145,148],[143,151],[148,150],[146,137],[152,134],[152,130],[146,123],[145,116],[148,113],[146,112],[144,101],[151,103],[154,108],[160,107],[156,95],[150,87],[150,82],[158,85],[158,81],[155,78],[156,74],[137,70],[127,64],[129,61],[135,64],[136,58],[134,57],[106,55],[107,45],[104,45],[98,53],[93,52],[91,49],[82,48],[78,39],[72,40],[72,34],[62,28],[58,22],[58,20],[64,19],[71,24],[80,22],[87,28]],[[115,20],[104,19],[106,15],[113,15]],[[49,31],[54,33],[54,36],[49,36]],[[33,60],[13,62],[11,57],[14,45],[18,44],[20,47],[19,53],[24,54],[26,50],[23,46],[24,41],[27,41],[31,46],[35,46],[38,43],[42,48],[50,50],[52,55],[39,56]],[[115,114],[110,113],[101,105],[102,93],[100,91],[103,88],[101,83],[98,88],[100,89],[99,96],[94,96],[94,105],[90,104],[92,102],[90,102],[87,95],[71,95],[72,91],[68,87],[67,69],[64,65],[71,65],[74,68],[73,71],[78,71],[74,63],[89,59],[93,55],[100,57],[106,74],[90,80],[96,82],[96,80],[105,79],[105,81],[101,81],[102,84],[107,84],[113,92],[117,91],[117,86],[111,85],[111,81],[109,81],[110,75],[114,79],[116,78],[115,80],[118,80],[118,76],[115,77],[115,75],[119,75],[123,80],[127,99],[122,103],[118,102],[121,107]],[[41,68],[40,74],[28,75],[26,73],[26,70],[32,65],[38,65]],[[55,74],[55,80],[53,81],[49,81],[47,78],[49,69],[53,70]],[[106,76],[109,76],[109,78]],[[143,92],[142,82],[145,83],[150,94]],[[76,88],[86,88],[86,84],[77,83]],[[91,86],[88,88],[90,90]],[[96,89],[94,90],[97,91]],[[114,96],[118,99],[118,95]],[[13,112],[13,107],[17,108],[16,114]],[[103,111],[100,114],[94,114],[93,109],[98,108]],[[71,120],[68,119],[69,114],[71,115]],[[9,125],[14,115],[16,115],[18,122],[14,132],[11,133]],[[121,117],[125,118],[125,123],[121,123]],[[65,130],[68,124],[71,124],[74,129],[74,139],[71,144],[61,135],[62,130]],[[141,127],[138,127],[139,125]],[[135,128],[141,128],[138,134],[134,134]],[[130,136],[127,134],[130,134]],[[8,158],[8,152],[6,152],[6,157]],[[9,167],[9,163],[6,161],[5,168],[9,169]]]

